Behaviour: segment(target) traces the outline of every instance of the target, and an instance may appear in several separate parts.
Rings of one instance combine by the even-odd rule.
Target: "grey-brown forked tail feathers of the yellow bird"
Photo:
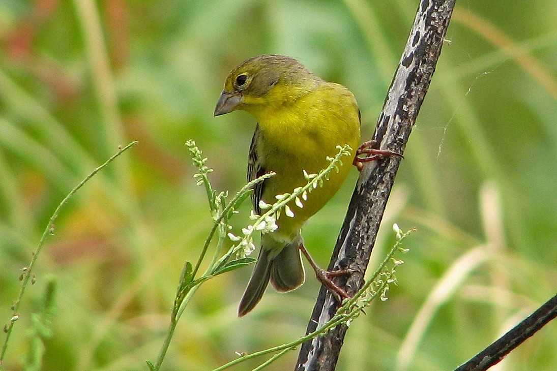
[[[299,245],[300,241],[292,241],[272,258],[269,253],[272,254],[273,250],[262,246],[250,282],[240,300],[238,316],[249,313],[259,303],[269,280],[275,290],[283,293],[294,290],[304,283],[305,271]]]

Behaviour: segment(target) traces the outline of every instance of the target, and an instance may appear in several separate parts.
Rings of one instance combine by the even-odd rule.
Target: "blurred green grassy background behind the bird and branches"
[[[52,279],[52,336],[41,369],[145,370],[162,344],[184,260],[196,260],[211,226],[184,142],[197,141],[218,190],[235,192],[245,181],[255,121],[244,112],[212,116],[228,71],[261,53],[296,57],[354,92],[370,138],[417,5],[2,0],[2,325],[55,207],[118,145],[139,141],[61,212],[23,298],[6,369],[22,369],[30,349],[37,352],[31,314],[41,311]],[[338,370],[453,369],[555,294],[555,24],[553,0],[457,1],[372,264],[392,245],[394,221],[418,232],[406,242],[411,253],[389,300],[351,325]],[[321,265],[357,175],[305,227]],[[238,319],[250,273],[218,276],[197,291],[163,369],[208,370],[235,351],[304,334],[316,280],[289,294],[269,290]],[[292,369],[296,356],[268,369]],[[497,367],[555,369],[557,324]]]

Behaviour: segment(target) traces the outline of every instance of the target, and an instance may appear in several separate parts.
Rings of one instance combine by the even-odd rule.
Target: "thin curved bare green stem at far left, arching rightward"
[[[93,170],[89,175],[87,175],[85,177],[84,180],[82,180],[80,182],[80,184],[78,184],[74,189],[72,189],[71,192],[62,200],[62,202],[60,202],[60,205],[58,205],[58,207],[56,207],[56,210],[54,211],[54,213],[50,217],[50,220],[48,221],[48,225],[46,226],[45,231],[43,231],[43,233],[42,233],[41,240],[38,243],[37,250],[33,254],[33,258],[31,258],[31,263],[29,264],[29,266],[25,267],[25,270],[23,271],[21,290],[19,290],[19,295],[17,297],[17,300],[12,305],[12,318],[9,321],[7,327],[5,328],[6,339],[4,339],[4,344],[2,345],[2,350],[0,350],[0,365],[2,364],[2,361],[4,359],[4,355],[6,354],[6,349],[8,348],[8,341],[9,341],[10,335],[12,334],[13,325],[16,322],[16,320],[19,318],[19,314],[18,314],[19,305],[21,304],[21,299],[23,297],[23,294],[25,293],[25,289],[27,288],[29,280],[32,277],[33,268],[35,268],[37,258],[39,256],[39,254],[41,253],[43,246],[45,245],[45,241],[46,241],[47,236],[52,234],[53,231],[54,231],[54,222],[57,219],[58,214],[60,213],[60,210],[62,209],[62,207],[64,205],[67,204],[67,202],[70,200],[70,198],[82,186],[84,186],[87,181],[89,181],[89,179],[91,179],[93,176],[95,176],[95,174],[97,174],[97,172],[99,172],[101,169],[103,169],[106,165],[110,164],[110,162],[112,162],[114,159],[116,159],[116,157],[120,156],[124,151],[128,150],[131,146],[134,146],[136,144],[138,144],[137,141],[131,142],[130,144],[128,144],[127,146],[125,146],[124,148],[122,148],[118,152],[116,152],[116,154],[113,155],[112,157],[110,157],[110,159],[106,160],[106,162],[104,164],[102,164],[101,166],[99,166],[95,170]]]

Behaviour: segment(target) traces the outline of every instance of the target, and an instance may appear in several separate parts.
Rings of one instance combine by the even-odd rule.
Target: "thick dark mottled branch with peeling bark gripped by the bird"
[[[455,0],[422,0],[408,42],[379,116],[374,140],[380,149],[402,154],[431,81]],[[361,171],[329,270],[353,268],[356,273],[336,283],[353,295],[364,283],[364,272],[375,243],[400,159],[369,162]],[[321,288],[307,333],[334,315],[338,303]],[[337,326],[324,337],[302,345],[296,370],[334,370],[348,328]]]

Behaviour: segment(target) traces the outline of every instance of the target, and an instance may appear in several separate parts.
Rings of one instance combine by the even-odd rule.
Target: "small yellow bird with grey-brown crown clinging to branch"
[[[262,55],[234,68],[226,78],[214,115],[234,110],[250,112],[258,122],[248,157],[248,181],[276,172],[255,187],[252,203],[258,214],[260,200],[273,204],[276,195],[307,184],[303,170],[312,174],[325,169],[329,165],[326,157],[338,154],[336,146],[348,144],[356,149],[360,142],[360,111],[354,95],[342,85],[321,80],[290,57]],[[361,161],[390,155],[379,150],[360,149],[360,153],[372,156],[355,158],[359,170]],[[269,281],[280,292],[304,283],[301,252],[310,260],[317,278],[340,296],[348,296],[330,280],[335,273],[318,268],[306,254],[300,234],[304,222],[338,191],[350,164],[345,162],[339,168],[338,173],[331,172],[323,187],[309,194],[303,208],[291,206],[294,217],[282,216],[276,231],[261,236],[261,250],[240,302],[239,316],[261,300]]]

